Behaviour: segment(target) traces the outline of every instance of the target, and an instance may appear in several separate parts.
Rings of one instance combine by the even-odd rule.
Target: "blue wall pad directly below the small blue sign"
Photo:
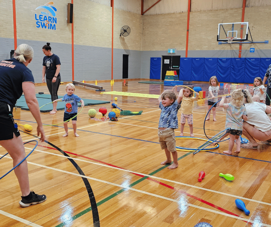
[[[267,69],[267,68],[266,68]],[[246,58],[244,81],[253,83],[260,73],[260,58]]]

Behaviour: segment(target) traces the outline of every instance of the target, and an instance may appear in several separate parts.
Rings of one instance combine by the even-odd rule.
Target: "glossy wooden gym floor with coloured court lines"
[[[142,84],[140,80],[99,82],[106,91],[161,94],[161,84]],[[65,84],[59,95],[65,94]],[[208,92],[208,84],[196,84]],[[181,87],[178,87],[178,91]],[[36,85],[36,93],[49,94],[45,84]],[[207,94],[206,92],[206,94]],[[103,226],[103,227],[193,227],[208,222],[213,227],[271,226],[271,158],[270,145],[258,149],[241,149],[239,156],[222,154],[227,141],[216,150],[198,152],[178,151],[179,166],[174,170],[160,165],[165,160],[157,127],[160,116],[157,99],[100,94],[94,89],[76,87],[81,98],[114,101],[123,110],[140,111],[138,116],[120,116],[118,121],[95,121],[89,109],[111,103],[86,106],[77,118],[77,133],[69,135],[63,124],[44,126],[46,142],[39,143],[27,158],[31,190],[46,194],[44,203],[21,208],[20,189],[12,171],[0,184],[0,226]],[[223,91],[221,91],[223,94]],[[78,108],[80,110],[81,107]],[[224,130],[225,111],[217,107],[217,122],[206,121],[207,101],[194,105],[194,135],[206,139]],[[44,124],[63,121],[63,111],[55,115],[41,113]],[[107,114],[106,114],[107,115]],[[180,119],[180,113],[178,114]],[[32,132],[19,126],[24,142],[37,139],[36,123],[30,111],[20,108],[14,112],[15,122],[30,124]],[[180,127],[180,124],[179,124]],[[186,124],[184,135],[189,136]],[[180,130],[175,130],[178,136]],[[202,140],[189,138],[176,141],[178,146],[197,148]],[[34,143],[26,144],[28,154]],[[0,147],[0,154],[6,151]],[[12,168],[7,155],[0,160],[1,176]],[[206,173],[198,182],[200,171]],[[234,181],[219,177],[219,173],[234,175]],[[235,205],[241,199],[250,211],[245,215]]]

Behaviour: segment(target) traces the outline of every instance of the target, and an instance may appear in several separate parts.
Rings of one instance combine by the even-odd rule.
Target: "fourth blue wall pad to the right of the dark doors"
[[[230,82],[231,58],[217,58],[218,82]]]

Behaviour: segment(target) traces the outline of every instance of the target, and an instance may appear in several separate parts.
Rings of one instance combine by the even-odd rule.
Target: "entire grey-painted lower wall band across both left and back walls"
[[[0,59],[9,59],[10,51],[14,49],[14,40],[0,38],[1,49]],[[50,42],[50,40],[48,40]],[[42,82],[42,59],[44,54],[42,47],[46,42],[18,39],[17,44],[27,43],[33,47],[34,58],[29,64],[35,82]],[[51,42],[50,42],[51,43]],[[248,44],[247,44],[248,45]],[[52,52],[57,54],[61,62],[61,81],[68,82],[72,80],[71,73],[71,44],[51,43]],[[239,50],[198,50],[189,51],[188,57],[214,57],[214,58],[237,58]],[[150,58],[168,55],[167,51],[137,51],[114,49],[113,79],[122,79],[122,59],[123,54],[129,55],[129,79],[149,79],[150,78]],[[176,51],[176,55],[185,57],[185,51]],[[271,56],[271,50],[255,50],[250,53],[249,50],[242,50],[242,57],[246,58],[266,58]],[[74,46],[74,79],[82,80],[111,80],[111,48],[101,48],[95,46]]]

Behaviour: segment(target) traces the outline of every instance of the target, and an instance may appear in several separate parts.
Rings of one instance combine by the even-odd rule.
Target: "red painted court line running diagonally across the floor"
[[[30,144],[30,143],[29,143],[29,144]],[[38,146],[40,146],[40,147],[45,147],[45,148],[49,148],[49,149],[52,149],[52,150],[57,150],[57,149],[55,149],[55,148],[47,147],[47,146],[43,146],[43,145],[38,145]],[[68,151],[64,151],[64,152],[67,153],[67,154],[73,154],[73,155],[76,155],[76,156],[79,156],[79,157],[82,157],[82,158],[86,158],[86,159],[93,160],[93,161],[96,161],[96,162],[99,162],[99,163],[102,163],[102,164],[106,164],[106,165],[108,165],[108,166],[112,166],[112,167],[124,169],[124,168],[122,168],[122,167],[118,167],[118,166],[112,165],[112,164],[110,164],[110,163],[106,163],[106,162],[103,162],[103,161],[100,161],[100,160],[97,160],[97,159],[94,159],[94,158],[89,158],[89,157],[86,157],[86,156],[83,156],[83,155],[80,155],[80,154],[75,154],[75,153],[68,152]],[[127,170],[127,169],[125,169],[125,170]],[[133,172],[129,172],[129,173],[133,173]],[[135,175],[137,175],[137,176],[140,176],[140,177],[146,177],[146,176],[141,175],[141,174],[138,174],[138,173],[133,173],[133,174],[135,174]],[[148,178],[146,178],[146,179],[151,180],[151,181],[154,181],[154,182],[156,182],[156,183],[158,183],[158,184],[160,184],[160,185],[163,185],[163,186],[165,186],[165,187],[167,187],[167,188],[170,188],[170,189],[172,189],[172,190],[174,190],[174,191],[176,191],[176,192],[181,192],[181,193],[183,193],[183,194],[186,194],[187,196],[189,196],[189,197],[191,197],[191,198],[194,198],[194,199],[196,199],[196,200],[198,200],[198,201],[200,201],[200,202],[202,202],[202,203],[205,203],[206,205],[209,205],[209,206],[211,206],[211,207],[214,207],[214,208],[216,208],[216,209],[218,209],[218,210],[220,210],[220,211],[222,211],[222,212],[224,212],[224,213],[227,213],[227,214],[230,214],[230,215],[234,215],[234,216],[236,216],[236,217],[242,217],[242,216],[239,216],[239,215],[237,215],[237,214],[235,214],[235,213],[232,213],[231,211],[228,211],[228,210],[226,210],[226,209],[223,209],[222,207],[219,207],[219,206],[217,206],[217,205],[214,205],[213,203],[209,203],[208,201],[206,201],[206,200],[204,200],[204,199],[201,199],[201,198],[198,198],[198,197],[196,197],[196,196],[193,196],[193,195],[191,195],[191,194],[189,194],[189,193],[187,193],[187,192],[185,192],[185,191],[178,190],[178,189],[176,189],[176,188],[174,188],[174,187],[172,187],[172,186],[170,186],[170,185],[168,185],[168,184],[162,183],[162,182],[157,181],[157,180],[155,180],[155,179],[151,179],[150,177],[148,177]],[[247,222],[247,221],[244,221],[244,222]],[[251,223],[250,223],[250,224],[251,224]]]

